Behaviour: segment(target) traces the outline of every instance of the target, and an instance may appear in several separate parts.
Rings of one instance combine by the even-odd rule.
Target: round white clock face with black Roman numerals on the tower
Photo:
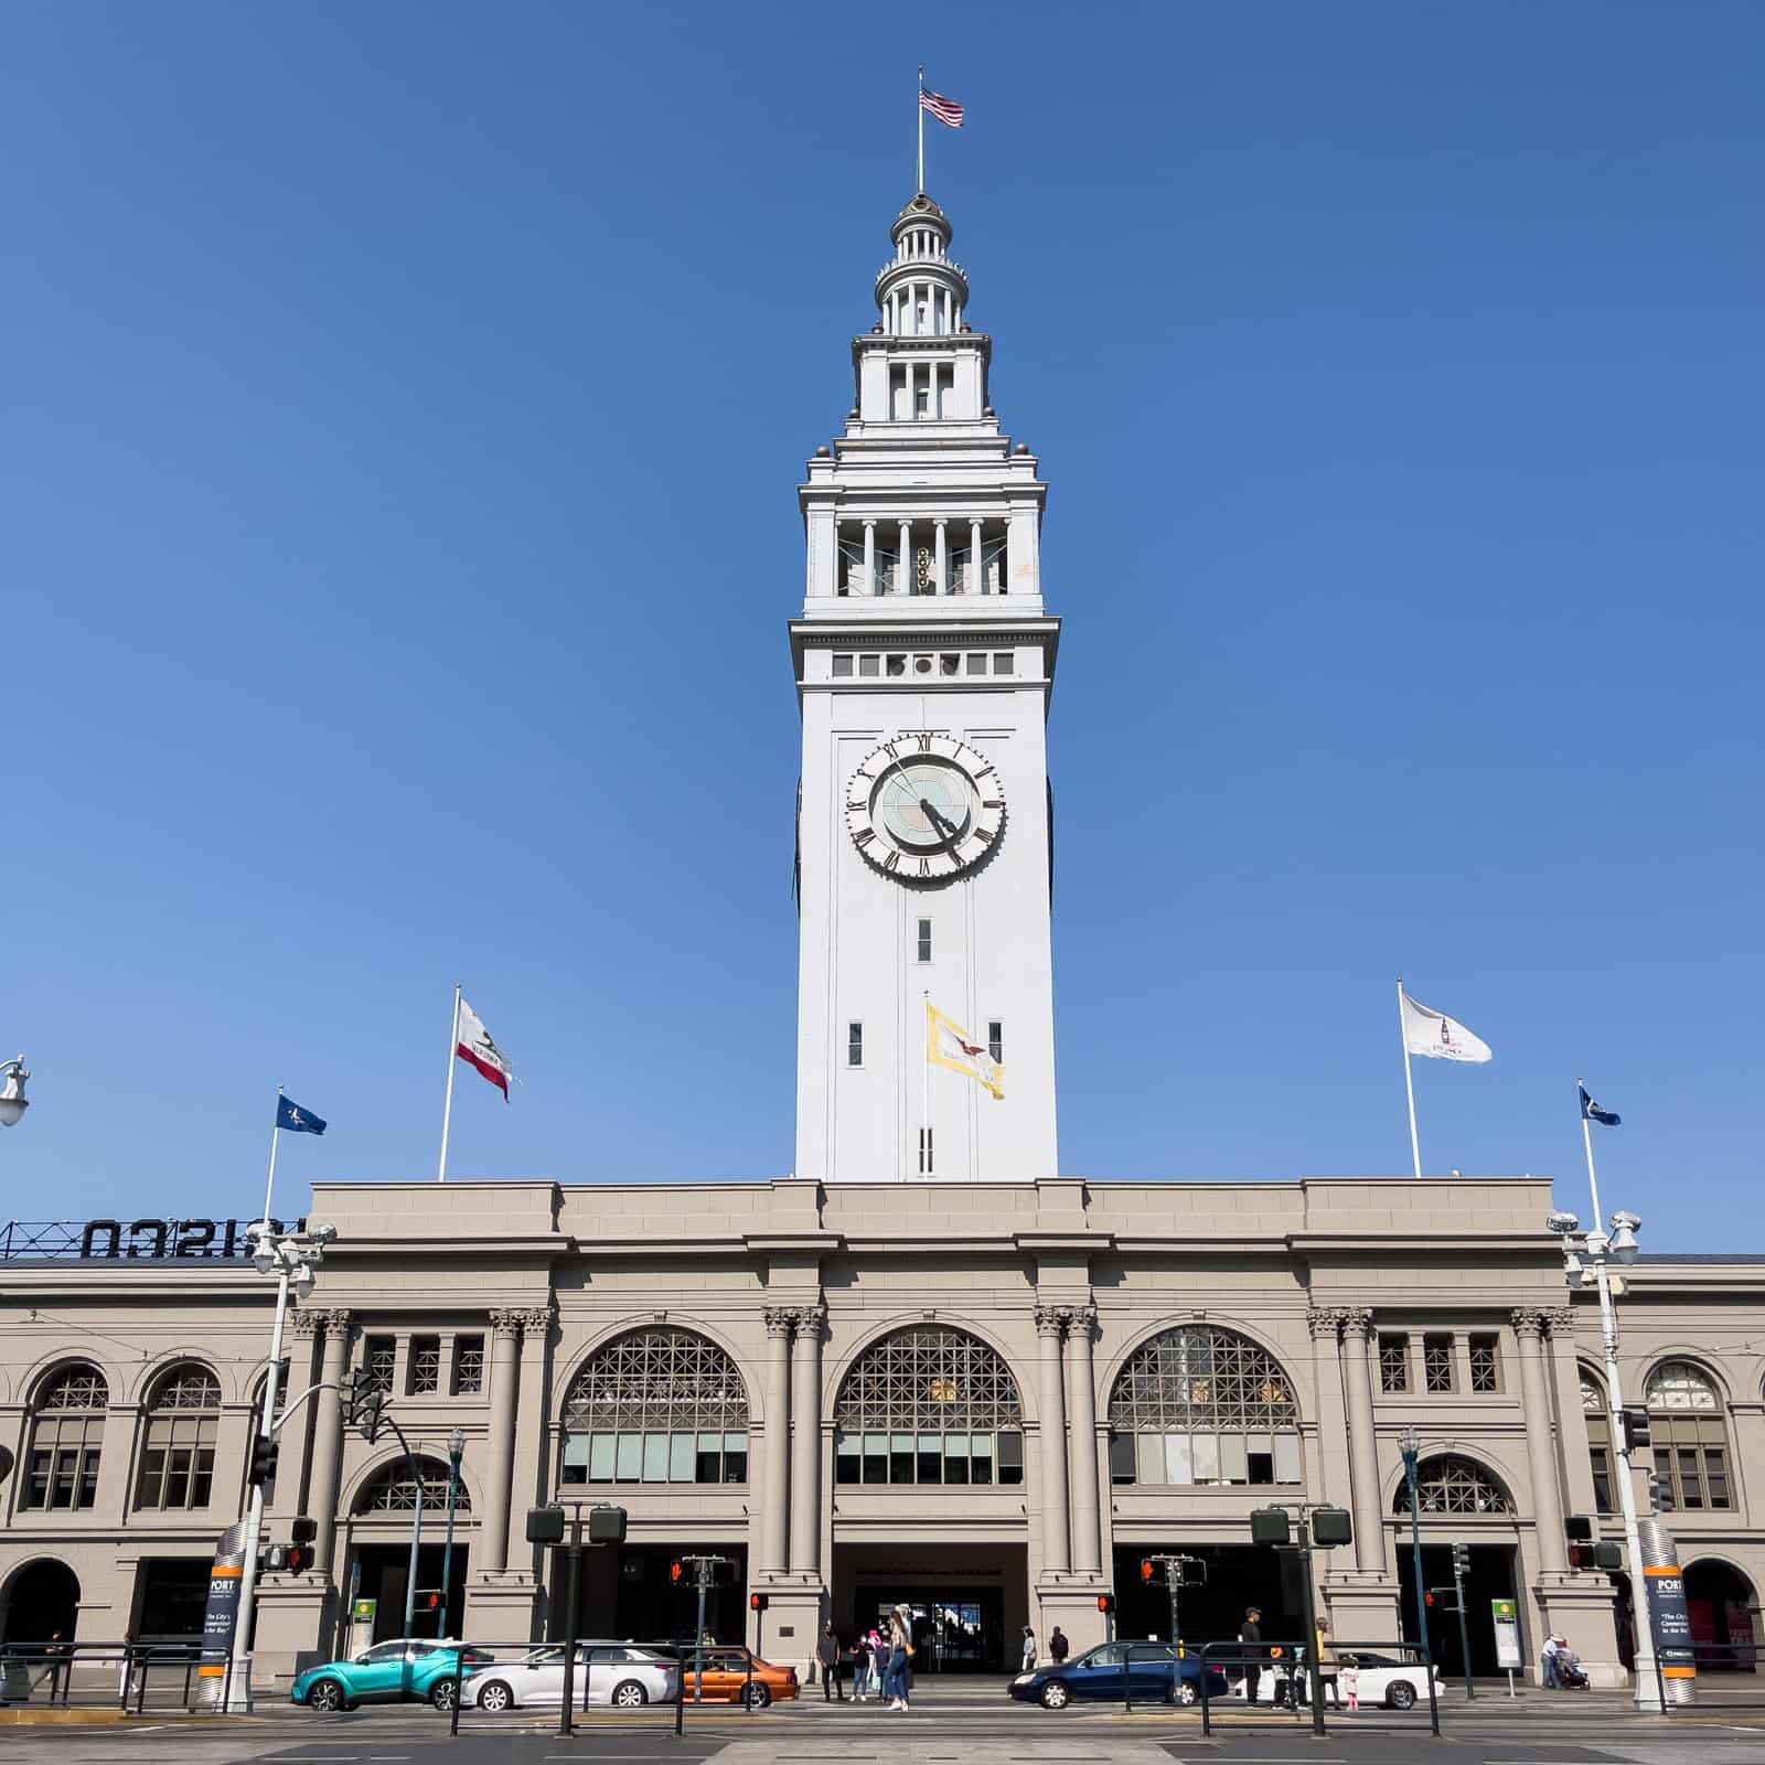
[[[868,863],[900,882],[973,870],[1003,828],[1004,791],[992,762],[928,729],[884,741],[845,785],[845,831]]]

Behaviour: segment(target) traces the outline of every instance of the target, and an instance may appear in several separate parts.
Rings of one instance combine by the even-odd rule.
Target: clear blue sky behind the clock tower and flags
[[[792,1158],[794,485],[913,191],[1052,485],[1061,1147],[1765,1248],[1756,4],[0,21],[0,1213]]]

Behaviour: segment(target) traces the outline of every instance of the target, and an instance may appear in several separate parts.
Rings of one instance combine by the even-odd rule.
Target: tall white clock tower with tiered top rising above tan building
[[[1047,485],[999,432],[944,212],[914,196],[890,237],[798,492],[796,1174],[1052,1177]]]

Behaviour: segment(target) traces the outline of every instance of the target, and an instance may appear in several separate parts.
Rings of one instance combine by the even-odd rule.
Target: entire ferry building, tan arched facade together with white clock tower
[[[448,1629],[489,1643],[563,1622],[524,1527],[554,1500],[630,1514],[588,1560],[593,1634],[669,1634],[669,1562],[699,1551],[734,1566],[711,1627],[770,1659],[803,1668],[822,1622],[849,1636],[904,1601],[920,1666],[1003,1671],[1024,1624],[1101,1640],[1105,1592],[1124,1634],[1163,1634],[1137,1566],[1181,1550],[1207,1564],[1191,1641],[1251,1603],[1299,1636],[1297,1564],[1250,1544],[1250,1513],[1308,1500],[1354,1518],[1315,1558],[1334,1634],[1396,1640],[1414,1430],[1423,1574],[1447,1585],[1470,1548],[1474,1664],[1513,1597],[1532,1670],[1558,1629],[1619,1682],[1627,1596],[1566,1539],[1583,1514],[1620,1536],[1597,1306],[1564,1285],[1546,1179],[1061,1174],[1047,485],[994,411],[950,221],[914,196],[890,238],[851,409],[798,492],[794,1174],[318,1184],[309,1216],[339,1236],[284,1389],[355,1368],[388,1394],[424,1467],[424,1613],[459,1431]],[[203,1227],[14,1223],[0,1244],[4,1640],[201,1627],[272,1296],[238,1221]],[[1765,1578],[1761,1273],[1645,1257],[1620,1301],[1652,1414],[1641,1511],[1717,1645],[1751,1641]],[[311,1516],[318,1541],[259,1583],[259,1684],[401,1633],[415,1493],[327,1396],[288,1424],[267,1537]],[[349,1634],[357,1599],[374,1617]]]

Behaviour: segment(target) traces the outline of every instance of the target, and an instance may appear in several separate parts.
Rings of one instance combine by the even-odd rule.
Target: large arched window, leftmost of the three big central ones
[[[597,1348],[563,1400],[560,1483],[747,1483],[748,1387],[690,1329]]]

